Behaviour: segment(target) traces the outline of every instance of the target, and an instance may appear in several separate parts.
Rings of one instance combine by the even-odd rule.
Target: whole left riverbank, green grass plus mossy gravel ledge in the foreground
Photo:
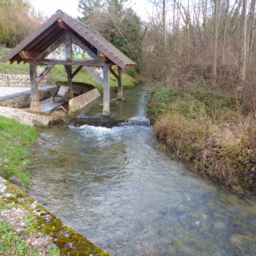
[[[29,187],[29,173],[23,165],[36,138],[34,127],[0,116],[0,254],[108,255],[4,180],[8,178],[23,189]]]

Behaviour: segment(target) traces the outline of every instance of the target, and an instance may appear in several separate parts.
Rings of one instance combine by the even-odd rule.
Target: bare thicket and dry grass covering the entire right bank
[[[149,1],[144,75],[159,81],[148,115],[162,149],[256,192],[255,0]]]

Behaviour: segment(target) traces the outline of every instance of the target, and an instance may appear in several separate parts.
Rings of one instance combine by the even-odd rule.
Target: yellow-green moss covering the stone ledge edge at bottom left
[[[24,230],[25,233],[37,231],[50,236],[53,244],[59,247],[62,255],[110,255],[72,228],[65,226],[59,218],[44,207],[35,204],[34,199],[16,188],[9,181],[5,181],[4,185],[6,186],[5,192],[0,194],[2,204],[12,204],[12,207],[24,207],[29,210],[29,216],[34,217],[34,221]],[[9,196],[4,197],[6,194],[9,194]]]

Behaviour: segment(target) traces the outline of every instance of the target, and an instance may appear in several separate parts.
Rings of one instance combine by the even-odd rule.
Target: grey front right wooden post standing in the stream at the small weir
[[[105,64],[103,67],[103,116],[110,115],[110,65]]]

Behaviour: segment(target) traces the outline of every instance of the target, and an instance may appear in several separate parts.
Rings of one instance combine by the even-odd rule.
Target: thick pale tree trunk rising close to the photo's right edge
[[[244,81],[246,75],[246,1],[243,0],[243,10],[241,18],[241,52],[240,52],[240,76]]]

